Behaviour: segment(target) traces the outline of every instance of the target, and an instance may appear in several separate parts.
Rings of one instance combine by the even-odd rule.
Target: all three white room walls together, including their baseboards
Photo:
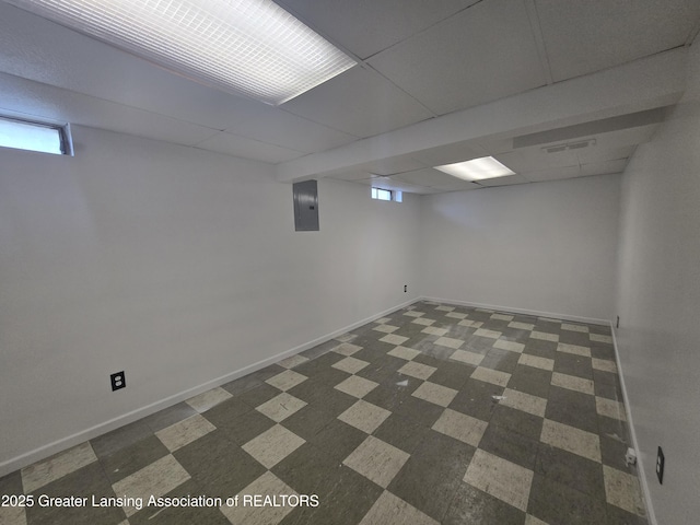
[[[74,158],[0,151],[0,476],[430,298],[615,319],[650,523],[692,523],[697,45],[689,55],[684,98],[622,175],[400,203],[322,179],[317,232],[294,231],[291,186],[267,164],[80,126]]]

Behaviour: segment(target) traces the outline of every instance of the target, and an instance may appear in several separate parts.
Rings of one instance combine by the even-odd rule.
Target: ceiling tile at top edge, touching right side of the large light
[[[477,0],[280,0],[311,27],[365,59]]]

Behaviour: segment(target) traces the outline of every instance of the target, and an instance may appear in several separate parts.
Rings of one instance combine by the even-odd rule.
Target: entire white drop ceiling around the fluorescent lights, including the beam
[[[697,0],[278,3],[359,63],[273,107],[2,0],[0,114],[266,162],[283,182],[434,194],[619,173],[681,96],[700,28]],[[516,175],[433,170],[486,155]]]

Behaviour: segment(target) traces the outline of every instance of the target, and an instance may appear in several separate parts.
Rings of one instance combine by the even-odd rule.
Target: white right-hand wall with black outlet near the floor
[[[700,515],[700,46],[688,89],[622,182],[621,372],[656,523]],[[666,457],[663,485],[656,447]]]

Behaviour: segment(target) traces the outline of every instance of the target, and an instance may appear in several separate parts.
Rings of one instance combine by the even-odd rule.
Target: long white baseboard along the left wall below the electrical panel
[[[278,361],[281,361],[284,358],[289,358],[291,355],[295,355],[300,352],[303,352],[304,350],[314,348],[315,346],[329,341],[330,339],[337,336],[340,336],[350,330],[353,330],[354,328],[358,328],[362,325],[366,325],[368,323],[372,323],[373,320],[378,319],[380,317],[384,317],[387,314],[390,314],[392,312],[395,312],[400,308],[405,308],[406,306],[409,306],[410,304],[413,304],[417,301],[420,301],[420,299],[416,298],[410,301],[406,301],[401,304],[398,304],[388,310],[380,312],[378,314],[372,315],[364,319],[352,323],[351,325],[348,325],[343,328],[335,330],[330,334],[326,334],[325,336],[318,337],[312,341],[307,341],[298,347],[291,348],[278,354],[266,358],[261,361],[258,361],[257,363],[253,363],[243,369],[222,375],[221,377],[217,377],[215,380],[211,380],[206,383],[202,383],[201,385],[179,392],[177,394],[174,394],[159,401],[152,402],[144,407],[127,412],[122,416],[118,416],[108,421],[104,421],[102,423],[95,424],[94,427],[91,427],[89,429],[81,430],[80,432],[71,434],[67,438],[62,438],[52,443],[48,443],[33,451],[26,452],[20,456],[13,457],[12,459],[8,459],[7,462],[0,463],[0,478],[10,472],[24,468],[27,465],[32,465],[33,463],[45,459],[54,454],[66,451],[72,446],[84,443],[85,441],[93,440],[102,434],[105,434],[120,427],[124,427],[125,424],[129,424],[135,421],[138,421],[141,418],[151,416],[152,413],[155,413],[159,410],[163,410],[164,408],[172,407],[173,405],[176,405],[180,401],[189,399],[190,397],[194,397],[203,392],[210,390],[211,388],[215,388],[217,386],[224,385],[233,380],[237,380],[238,377],[243,377],[244,375],[256,372],[257,370],[264,369],[265,366],[277,363]]]

